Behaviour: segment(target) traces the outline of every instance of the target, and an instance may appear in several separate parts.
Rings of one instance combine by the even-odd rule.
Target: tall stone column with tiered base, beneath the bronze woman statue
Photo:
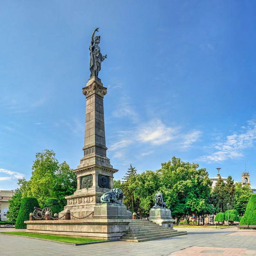
[[[74,173],[77,175],[77,189],[74,195],[65,197],[67,206],[76,217],[87,216],[100,203],[103,193],[112,189],[114,169],[107,157],[105,138],[103,98],[107,88],[93,76],[83,88],[86,97],[85,137],[83,158]]]

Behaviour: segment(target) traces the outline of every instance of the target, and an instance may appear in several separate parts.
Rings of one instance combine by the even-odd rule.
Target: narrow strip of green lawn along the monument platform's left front
[[[49,234],[27,233],[27,232],[24,232],[24,231],[1,232],[1,233],[2,234],[10,234],[10,235],[18,235],[18,236],[36,237],[36,238],[54,240],[54,241],[65,242],[65,243],[73,243],[73,244],[94,243],[94,242],[105,241],[103,239],[92,239],[92,238],[80,238],[80,237],[72,237],[72,236],[57,236],[57,235],[49,235]]]

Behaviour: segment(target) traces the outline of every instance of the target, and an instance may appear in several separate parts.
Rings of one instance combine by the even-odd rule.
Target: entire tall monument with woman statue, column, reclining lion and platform
[[[77,189],[65,197],[67,205],[58,220],[29,220],[27,232],[118,240],[128,229],[132,213],[123,204],[124,193],[113,189],[114,169],[107,157],[103,87],[98,74],[101,62],[107,58],[100,52],[100,36],[94,34],[90,43],[90,79],[83,88],[86,97],[83,157],[74,173]],[[64,219],[65,212],[70,216]]]

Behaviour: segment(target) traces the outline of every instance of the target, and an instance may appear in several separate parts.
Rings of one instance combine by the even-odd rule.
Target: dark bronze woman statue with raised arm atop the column
[[[92,33],[92,40],[90,44],[90,77],[97,76],[99,74],[99,71],[101,70],[101,62],[104,61],[105,58],[107,58],[107,55],[102,56],[101,49],[99,47],[99,42],[101,40],[100,36],[95,36],[94,34],[96,31],[98,31],[99,27],[94,29]]]

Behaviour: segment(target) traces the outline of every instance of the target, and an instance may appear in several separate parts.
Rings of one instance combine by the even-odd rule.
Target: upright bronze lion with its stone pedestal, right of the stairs
[[[160,192],[155,194],[155,205],[150,209],[148,219],[162,227],[173,228],[175,220],[171,217],[171,210],[166,208],[166,203]]]

